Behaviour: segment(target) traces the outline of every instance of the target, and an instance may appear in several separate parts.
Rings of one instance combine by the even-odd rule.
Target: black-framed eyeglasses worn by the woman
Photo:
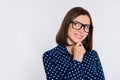
[[[81,22],[78,21],[71,21],[72,22],[72,28],[76,30],[80,30],[82,27],[86,33],[89,32],[90,25],[88,24],[82,24]]]

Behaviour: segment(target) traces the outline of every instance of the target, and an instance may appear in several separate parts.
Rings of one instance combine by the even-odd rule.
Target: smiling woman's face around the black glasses
[[[90,25],[90,18],[87,15],[80,15],[76,17],[73,21]],[[70,23],[68,27],[68,38],[67,38],[68,43],[71,45],[77,42],[82,42],[88,35],[88,33],[84,31],[83,27],[79,30],[76,30],[76,29],[73,29],[72,26],[73,26],[73,23]]]

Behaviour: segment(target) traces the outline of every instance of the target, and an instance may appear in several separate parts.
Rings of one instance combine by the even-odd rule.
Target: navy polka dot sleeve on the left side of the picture
[[[62,80],[62,66],[55,63],[50,52],[43,54],[43,64],[47,80]]]

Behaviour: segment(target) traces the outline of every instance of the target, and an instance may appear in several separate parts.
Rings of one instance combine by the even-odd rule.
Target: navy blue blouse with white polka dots
[[[85,53],[83,61],[73,56],[63,45],[46,51],[43,64],[47,80],[105,80],[102,65],[96,51]]]

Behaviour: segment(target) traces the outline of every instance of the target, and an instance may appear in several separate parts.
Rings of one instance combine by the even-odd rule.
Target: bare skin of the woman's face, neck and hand
[[[90,19],[87,15],[80,15],[74,19],[74,21],[79,21],[83,24],[90,25]],[[87,37],[88,33],[84,31],[83,28],[80,30],[75,30],[72,28],[72,23],[70,23],[68,28],[68,38],[67,41],[71,46],[66,46],[70,54],[73,55],[73,59],[82,62],[83,56],[86,52],[82,41]]]

